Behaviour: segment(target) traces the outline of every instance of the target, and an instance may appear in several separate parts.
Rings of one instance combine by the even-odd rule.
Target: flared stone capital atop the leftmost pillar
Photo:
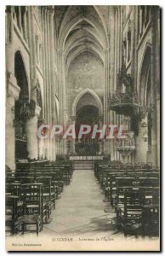
[[[20,96],[20,87],[13,73],[7,75],[7,96],[13,96],[16,101]]]

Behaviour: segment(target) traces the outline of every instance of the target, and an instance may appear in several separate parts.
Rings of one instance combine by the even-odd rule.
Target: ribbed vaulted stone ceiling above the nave
[[[65,55],[69,68],[77,55],[87,51],[104,63],[108,47],[110,6],[55,6],[58,49]]]

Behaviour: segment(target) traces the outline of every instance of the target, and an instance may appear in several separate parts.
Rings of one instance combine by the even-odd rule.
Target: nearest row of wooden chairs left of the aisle
[[[25,183],[17,185],[15,189],[18,190],[17,195],[6,194],[6,227],[14,235],[19,230],[24,234],[27,225],[35,225],[38,235],[47,218],[43,184]]]

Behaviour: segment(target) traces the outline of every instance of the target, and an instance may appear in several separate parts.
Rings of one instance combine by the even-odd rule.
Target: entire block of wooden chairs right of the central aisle
[[[127,236],[130,230],[142,236],[159,234],[159,170],[151,163],[121,165],[96,162],[94,173],[105,200],[117,213],[117,227]],[[154,229],[150,226],[155,225]]]

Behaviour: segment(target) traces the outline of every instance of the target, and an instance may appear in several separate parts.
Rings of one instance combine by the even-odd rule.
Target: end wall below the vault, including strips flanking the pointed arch
[[[68,72],[66,88],[69,112],[75,97],[85,89],[94,90],[103,102],[104,86],[104,67],[101,61],[90,52],[78,55],[71,62]]]

